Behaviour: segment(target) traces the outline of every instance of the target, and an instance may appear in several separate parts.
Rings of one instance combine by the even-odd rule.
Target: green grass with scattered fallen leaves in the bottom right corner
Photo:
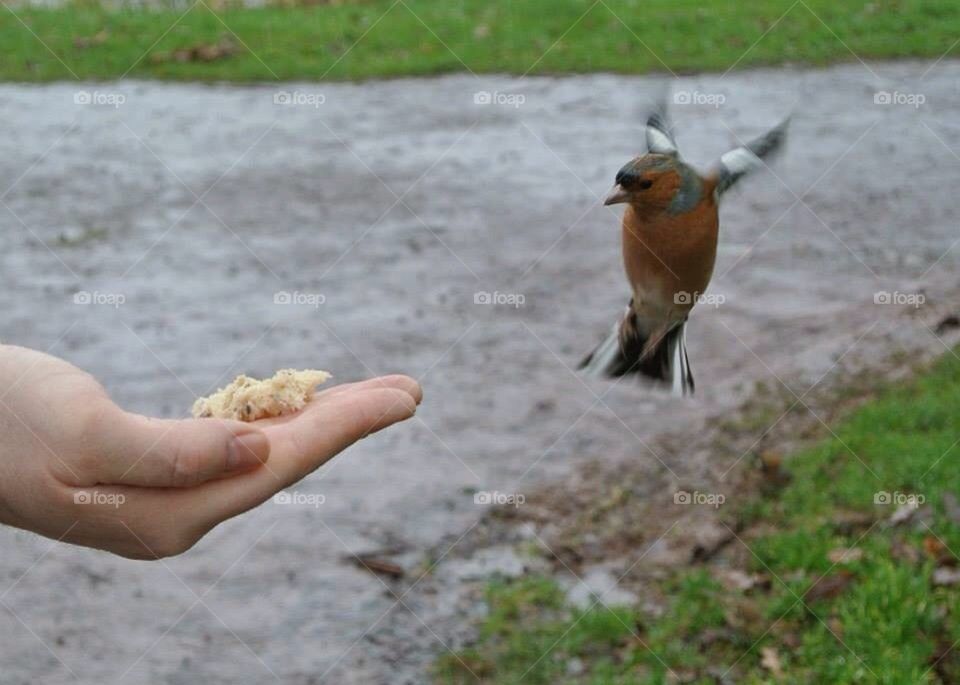
[[[960,564],[958,406],[951,353],[855,410],[738,512],[743,544],[647,588],[666,598],[657,616],[584,613],[550,578],[493,583],[478,642],[441,659],[438,681],[960,682],[960,585],[933,582]],[[893,524],[885,500],[909,496],[924,504]],[[731,567],[754,584],[722,582]]]

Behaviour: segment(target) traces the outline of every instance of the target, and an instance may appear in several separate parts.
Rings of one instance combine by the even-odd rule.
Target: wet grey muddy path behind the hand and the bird
[[[322,505],[269,503],[162,564],[0,531],[4,682],[422,682],[451,622],[345,555],[390,552],[399,594],[484,515],[475,491],[532,493],[596,459],[629,460],[651,493],[696,483],[716,475],[706,452],[658,451],[659,434],[700,431],[758,382],[802,395],[850,360],[943,350],[929,326],[960,287],[958,77],[855,63],[673,84],[700,164],[795,111],[776,175],[723,208],[723,302],[693,315],[688,401],[571,372],[625,302],[619,211],[600,198],[641,149],[658,79],[0,87],[5,342],[161,416],[288,366],[426,389],[415,420],[294,488]],[[482,575],[457,563],[433,575]]]

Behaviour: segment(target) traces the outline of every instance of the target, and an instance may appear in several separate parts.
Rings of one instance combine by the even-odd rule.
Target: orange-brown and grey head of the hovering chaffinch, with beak
[[[640,210],[666,210],[677,198],[689,175],[676,155],[649,152],[627,162],[620,171],[605,205],[627,202]]]

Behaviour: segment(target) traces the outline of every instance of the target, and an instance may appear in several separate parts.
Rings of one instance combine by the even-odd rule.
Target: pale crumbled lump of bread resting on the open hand
[[[326,383],[330,374],[308,369],[283,369],[262,381],[240,375],[230,385],[193,404],[196,418],[257,421],[284,416],[303,409],[314,389]]]

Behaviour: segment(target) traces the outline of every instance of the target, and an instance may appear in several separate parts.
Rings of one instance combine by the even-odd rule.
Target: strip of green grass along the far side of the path
[[[357,0],[186,11],[67,0],[0,10],[0,79],[680,73],[854,55],[937,58],[957,35],[954,0]],[[172,58],[223,40],[237,52]]]

